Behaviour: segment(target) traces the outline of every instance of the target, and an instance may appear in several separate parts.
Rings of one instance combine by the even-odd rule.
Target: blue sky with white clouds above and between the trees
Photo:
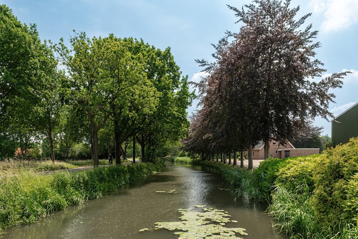
[[[182,74],[198,81],[202,73],[195,59],[212,60],[225,30],[239,31],[234,12],[226,4],[241,8],[250,0],[0,0],[24,23],[35,23],[41,40],[65,42],[72,30],[89,36],[142,38],[157,48],[171,47]],[[338,116],[358,102],[358,0],[291,0],[300,5],[297,16],[312,12],[307,23],[319,30],[317,58],[327,74],[350,70],[341,89],[331,91],[336,104],[330,111]],[[188,109],[195,110],[196,103]],[[317,118],[323,134],[331,135],[331,123]]]

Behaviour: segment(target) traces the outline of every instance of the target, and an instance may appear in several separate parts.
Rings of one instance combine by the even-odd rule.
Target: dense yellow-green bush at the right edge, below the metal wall
[[[357,220],[358,138],[326,150],[314,171],[315,190],[312,205],[323,226],[355,223]],[[353,200],[353,201],[352,201]],[[337,231],[340,229],[336,229]]]

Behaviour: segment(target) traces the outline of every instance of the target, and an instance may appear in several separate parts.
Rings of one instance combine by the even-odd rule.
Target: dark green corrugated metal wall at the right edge
[[[332,143],[347,143],[350,138],[358,137],[358,104],[332,121]]]

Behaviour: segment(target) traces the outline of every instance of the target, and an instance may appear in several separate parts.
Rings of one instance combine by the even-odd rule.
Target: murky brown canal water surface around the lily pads
[[[247,200],[234,202],[234,189],[217,174],[186,167],[168,167],[137,186],[118,190],[88,202],[55,213],[38,223],[12,227],[4,239],[178,239],[166,230],[139,233],[154,229],[156,222],[177,221],[179,208],[207,205],[228,211],[235,225],[243,227],[244,239],[274,239],[277,236],[270,219]],[[175,193],[156,193],[171,191]]]

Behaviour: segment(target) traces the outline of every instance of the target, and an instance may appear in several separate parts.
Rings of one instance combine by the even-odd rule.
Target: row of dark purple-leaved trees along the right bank
[[[325,72],[315,58],[317,31],[312,24],[303,26],[310,14],[296,18],[299,7],[289,3],[228,6],[242,25],[213,45],[214,63],[197,60],[209,74],[197,84],[202,108],[191,119],[187,150],[207,158],[234,152],[236,164],[235,152],[248,150],[251,159],[252,146],[263,141],[267,158],[270,140],[284,144],[303,134],[315,117],[333,117],[328,105],[335,96],[328,91],[342,87],[347,72],[317,80]]]

